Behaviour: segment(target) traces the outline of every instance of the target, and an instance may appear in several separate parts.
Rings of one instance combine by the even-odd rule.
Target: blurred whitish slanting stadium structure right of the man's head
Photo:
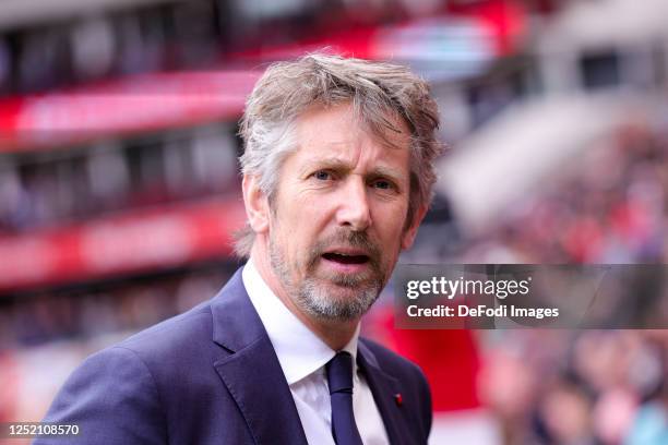
[[[514,105],[442,160],[437,191],[448,196],[463,232],[475,234],[646,106],[623,94]]]

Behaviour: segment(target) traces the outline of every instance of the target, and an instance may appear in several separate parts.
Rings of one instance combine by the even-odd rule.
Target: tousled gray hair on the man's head
[[[355,117],[384,143],[398,133],[392,123],[401,118],[410,130],[410,193],[406,227],[417,209],[433,196],[433,160],[441,154],[437,141],[439,111],[429,85],[408,68],[386,62],[314,53],[267,68],[246,103],[239,134],[243,155],[241,172],[258,177],[270,203],[276,193],[278,172],[297,148],[295,121],[313,105],[349,103]],[[390,131],[389,131],[390,130]],[[250,226],[236,234],[235,251],[250,255],[255,233]]]

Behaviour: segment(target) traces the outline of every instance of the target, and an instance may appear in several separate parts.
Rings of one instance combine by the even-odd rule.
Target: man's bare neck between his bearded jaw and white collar
[[[260,276],[276,297],[285,304],[301,323],[305,324],[313,334],[318,336],[325,345],[335,351],[342,350],[353,338],[359,318],[350,321],[330,321],[314,317],[306,313],[297,305],[294,299],[289,296],[281,280],[274,273],[269,260],[269,251],[265,244],[255,240],[251,251],[251,261],[260,273]]]

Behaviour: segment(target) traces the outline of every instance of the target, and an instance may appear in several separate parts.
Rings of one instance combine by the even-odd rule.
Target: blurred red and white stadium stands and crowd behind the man
[[[665,0],[3,0],[0,421],[239,266],[237,119],[266,64],[326,48],[429,79],[439,193],[417,263],[666,263]],[[622,296],[668,320],[664,282]],[[433,444],[668,444],[664,330],[393,328]],[[1,443],[1,440],[0,440]],[[7,443],[17,443],[7,441]]]

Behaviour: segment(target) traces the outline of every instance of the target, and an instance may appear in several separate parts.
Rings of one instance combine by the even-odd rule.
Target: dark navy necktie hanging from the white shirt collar
[[[336,445],[362,445],[353,414],[353,356],[337,352],[325,365],[332,401],[332,434]]]

